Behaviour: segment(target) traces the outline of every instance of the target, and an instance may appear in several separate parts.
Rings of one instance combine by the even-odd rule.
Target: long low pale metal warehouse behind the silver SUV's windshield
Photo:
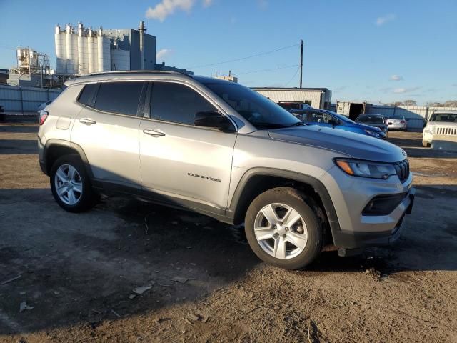
[[[328,109],[331,104],[331,90],[327,88],[253,87],[253,90],[285,109],[300,109],[303,104],[315,109]]]

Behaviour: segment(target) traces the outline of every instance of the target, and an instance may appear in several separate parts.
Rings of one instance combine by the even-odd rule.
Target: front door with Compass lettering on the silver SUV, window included
[[[194,126],[197,112],[217,109],[190,86],[156,81],[150,99],[139,139],[144,188],[166,202],[225,209],[236,133]]]

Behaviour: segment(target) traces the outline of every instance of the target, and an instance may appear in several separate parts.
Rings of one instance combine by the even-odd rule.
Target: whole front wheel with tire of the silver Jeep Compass
[[[264,262],[284,269],[311,264],[323,246],[323,230],[313,204],[290,187],[258,195],[245,219],[246,237]]]

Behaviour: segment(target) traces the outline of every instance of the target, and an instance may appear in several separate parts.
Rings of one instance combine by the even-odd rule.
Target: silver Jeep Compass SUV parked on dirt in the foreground
[[[245,225],[286,269],[333,244],[389,244],[411,213],[408,159],[386,141],[306,126],[251,89],[174,72],[92,74],[41,111],[41,169],[70,212],[121,192]]]

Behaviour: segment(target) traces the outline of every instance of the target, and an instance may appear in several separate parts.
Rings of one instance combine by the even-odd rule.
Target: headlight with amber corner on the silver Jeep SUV
[[[335,159],[334,161],[343,172],[354,177],[370,177],[372,179],[385,180],[391,175],[397,174],[392,164],[358,161],[356,159]]]

